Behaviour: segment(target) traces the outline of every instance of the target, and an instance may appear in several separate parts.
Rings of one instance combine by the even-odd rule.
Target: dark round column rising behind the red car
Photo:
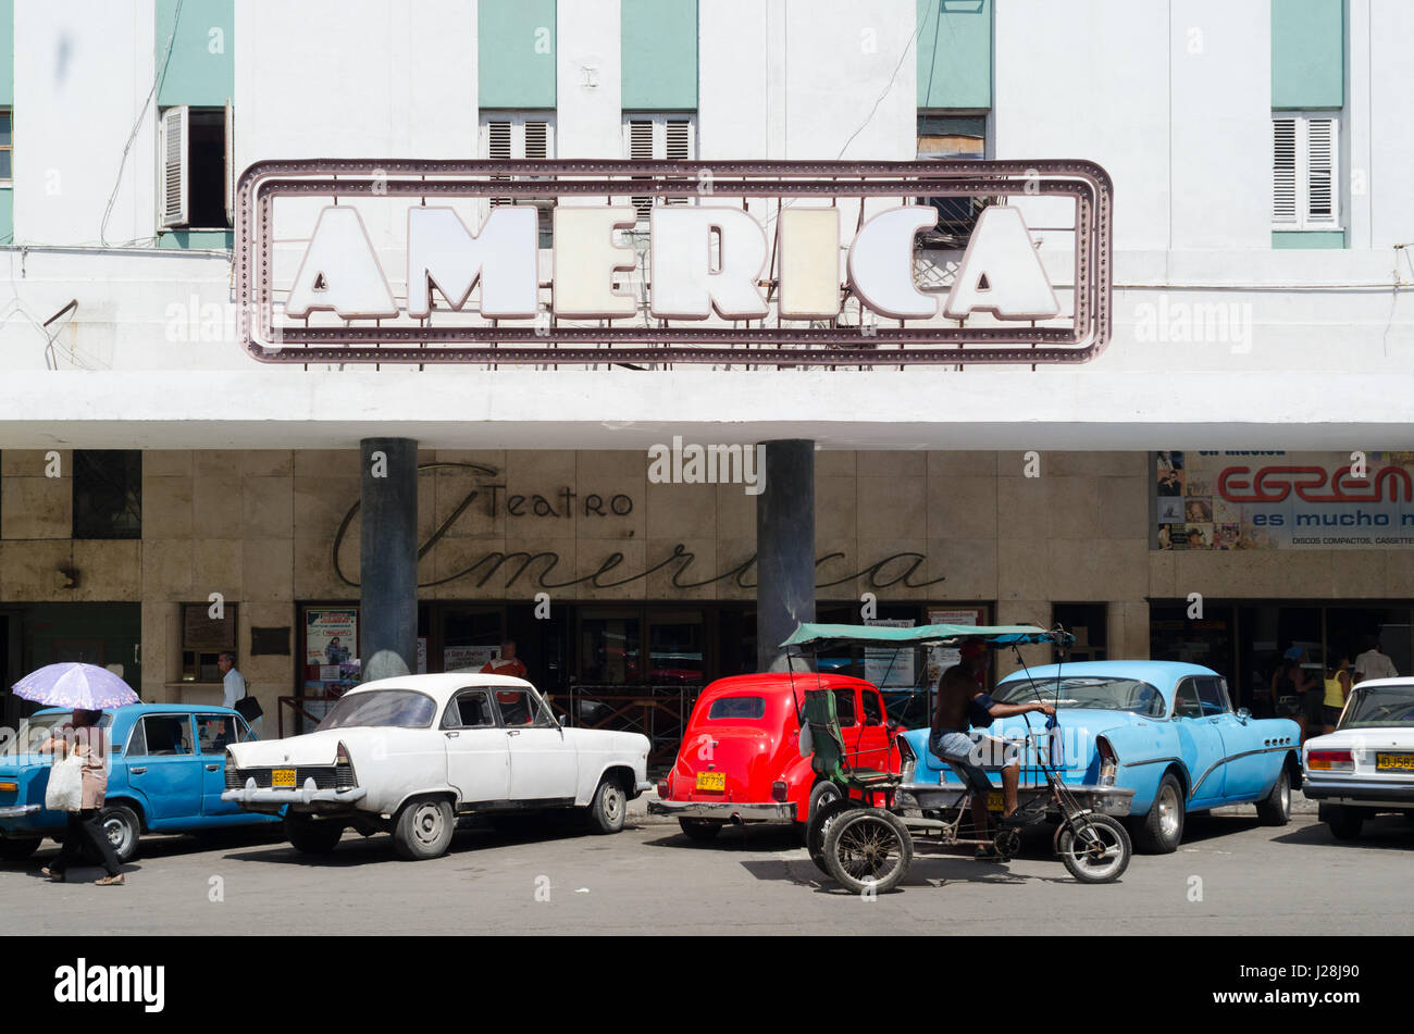
[[[765,442],[756,496],[756,670],[785,671],[781,643],[814,620],[814,442]]]

